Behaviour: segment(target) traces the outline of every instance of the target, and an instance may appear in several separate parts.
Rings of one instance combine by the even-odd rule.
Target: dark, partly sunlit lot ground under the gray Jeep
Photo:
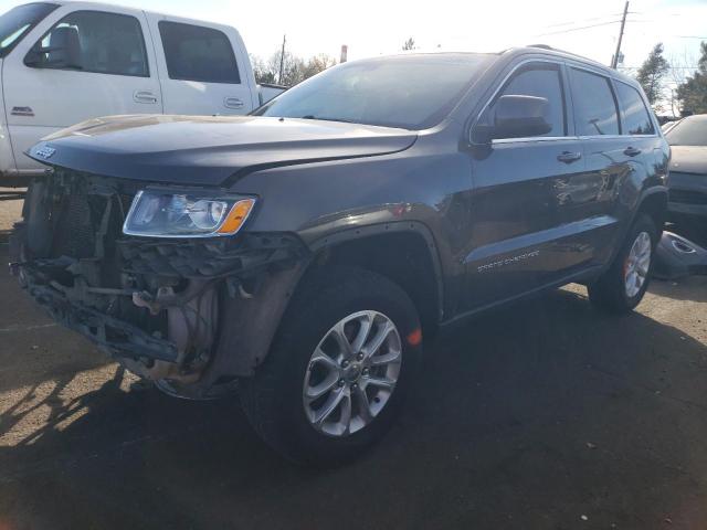
[[[0,204],[0,242],[18,214]],[[620,318],[573,287],[469,322],[384,442],[329,471],[0,293],[0,530],[707,528],[707,277]]]

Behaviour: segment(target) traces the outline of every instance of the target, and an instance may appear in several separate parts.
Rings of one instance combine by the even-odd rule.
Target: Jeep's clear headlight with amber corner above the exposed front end
[[[212,237],[235,234],[251,213],[255,199],[138,191],[125,219],[123,233],[146,237]]]

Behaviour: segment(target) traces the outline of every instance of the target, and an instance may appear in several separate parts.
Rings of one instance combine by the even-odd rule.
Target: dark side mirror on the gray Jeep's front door
[[[550,104],[545,97],[500,96],[494,105],[494,125],[478,125],[476,141],[484,144],[500,138],[542,136],[552,130],[547,121]]]

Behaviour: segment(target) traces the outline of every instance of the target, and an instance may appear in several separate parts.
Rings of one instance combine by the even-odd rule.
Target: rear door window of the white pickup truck
[[[239,67],[231,41],[211,28],[159,23],[170,80],[240,84]]]

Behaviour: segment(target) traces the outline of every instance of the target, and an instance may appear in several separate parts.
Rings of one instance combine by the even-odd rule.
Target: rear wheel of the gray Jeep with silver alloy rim
[[[588,287],[590,301],[612,312],[634,309],[648,288],[657,242],[655,224],[647,215],[641,215],[611,267]]]

